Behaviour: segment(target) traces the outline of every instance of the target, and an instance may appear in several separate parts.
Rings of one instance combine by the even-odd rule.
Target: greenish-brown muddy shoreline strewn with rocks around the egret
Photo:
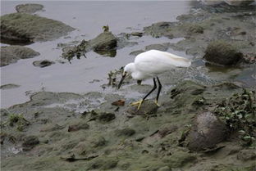
[[[184,38],[130,52],[133,56],[149,49],[171,48],[193,56],[189,69],[160,76],[166,86],[160,107],[153,97],[139,111],[130,106],[138,97],[126,94],[133,92],[140,97],[152,86],[139,86],[127,79],[125,86],[115,91],[121,78],[118,68],[108,73],[109,79],[103,84],[112,92],[42,90],[30,95],[30,101],[1,109],[1,169],[255,170],[254,8],[241,7],[237,12],[233,6],[201,4],[189,15],[178,16],[176,22],[155,23],[143,33],[121,34],[126,41],[149,35]],[[243,53],[244,60],[231,66],[204,65],[208,43],[218,38]],[[114,44],[111,50],[116,50],[116,40]],[[84,53],[83,49],[77,52]],[[234,73],[214,72],[234,68]],[[232,79],[243,73],[240,70],[247,70],[246,79],[251,81]],[[10,83],[1,89],[19,86]]]

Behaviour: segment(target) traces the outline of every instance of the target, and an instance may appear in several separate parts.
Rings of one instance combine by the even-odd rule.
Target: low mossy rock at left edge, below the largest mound
[[[39,55],[40,55],[39,52],[35,52],[33,49],[30,49],[29,47],[22,47],[22,46],[1,47],[1,66],[15,63],[20,59],[32,58],[34,56],[39,56]]]

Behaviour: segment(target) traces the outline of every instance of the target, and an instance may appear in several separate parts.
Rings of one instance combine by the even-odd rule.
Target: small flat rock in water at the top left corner
[[[33,14],[36,11],[43,10],[43,5],[36,4],[36,3],[26,3],[26,4],[17,5],[15,9],[17,12]]]

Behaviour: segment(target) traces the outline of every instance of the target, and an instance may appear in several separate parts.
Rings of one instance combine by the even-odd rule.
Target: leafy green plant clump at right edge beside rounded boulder
[[[215,113],[226,123],[232,133],[240,133],[245,145],[251,145],[256,137],[256,94],[247,91],[233,94],[222,101],[215,109]]]

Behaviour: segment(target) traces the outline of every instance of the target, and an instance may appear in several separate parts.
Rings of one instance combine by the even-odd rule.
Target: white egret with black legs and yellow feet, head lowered
[[[141,82],[143,79],[153,77],[152,90],[142,100],[136,101],[131,105],[138,105],[139,110],[143,101],[157,88],[156,79],[158,81],[158,95],[155,103],[158,105],[158,98],[162,88],[162,84],[158,79],[158,74],[171,70],[174,67],[189,67],[190,65],[191,61],[189,59],[176,56],[169,52],[162,52],[158,50],[143,52],[135,57],[135,62],[129,63],[125,66],[121,81],[117,88],[119,89],[121,87],[121,83],[126,78],[127,74],[131,74],[131,77],[138,82]]]

